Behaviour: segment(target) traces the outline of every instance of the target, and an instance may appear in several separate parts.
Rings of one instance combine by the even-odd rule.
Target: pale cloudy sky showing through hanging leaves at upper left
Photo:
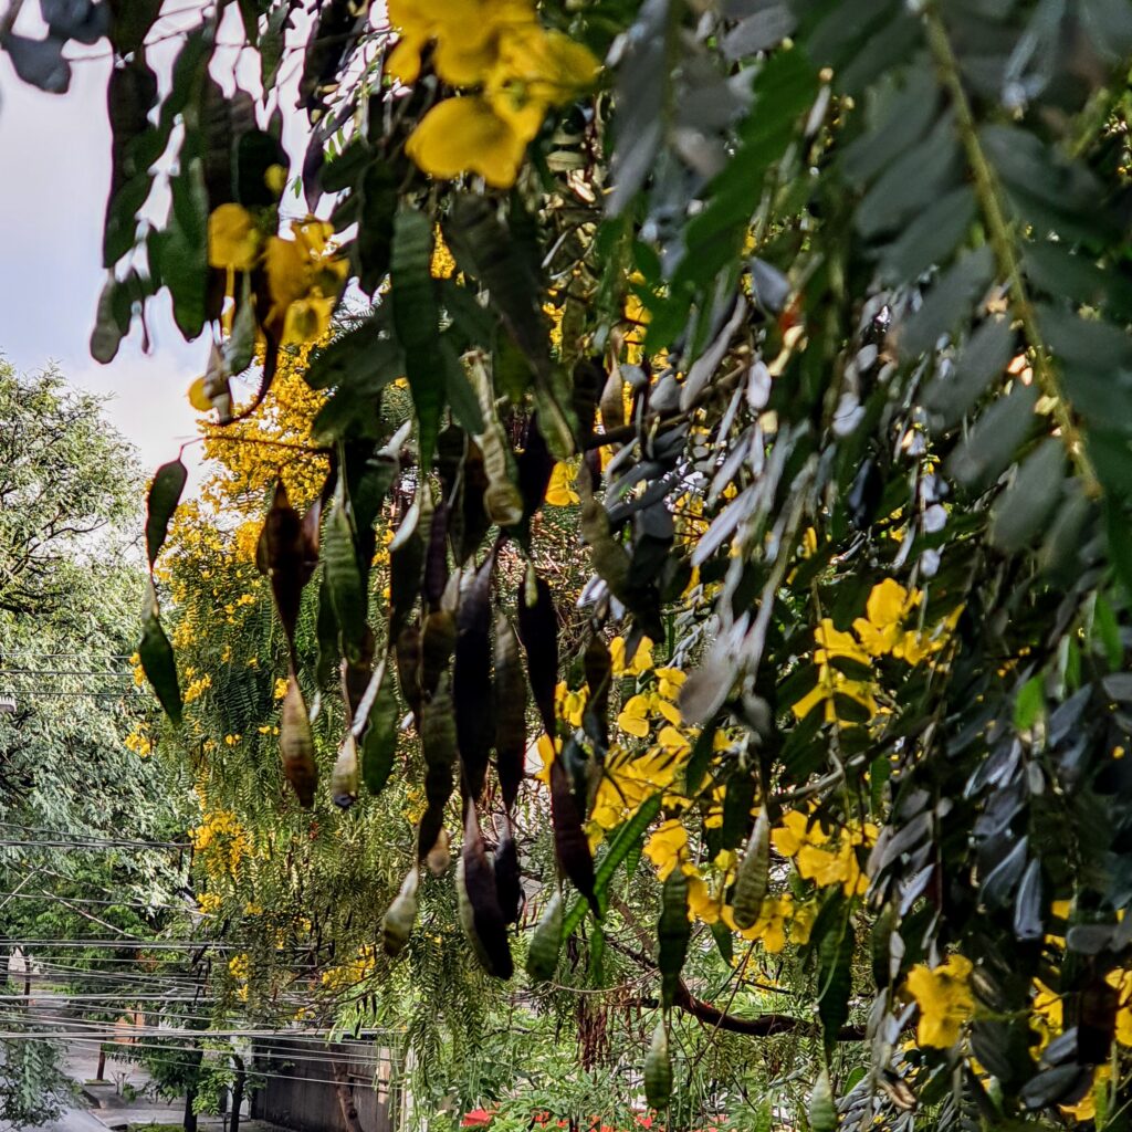
[[[41,34],[35,9],[36,5],[25,6],[17,31]],[[180,48],[175,33],[199,23],[192,5],[183,0],[170,0],[164,10],[170,15],[154,26],[151,38],[158,42],[147,53],[160,80],[168,78]],[[300,45],[306,23],[299,14],[292,34]],[[240,38],[233,5],[225,12],[217,42]],[[172,460],[182,441],[197,435],[196,413],[186,391],[204,371],[208,332],[186,343],[172,321],[168,295],[158,295],[148,306],[148,354],[142,352],[135,320],[113,362],[100,366],[91,358],[91,328],[105,280],[102,220],[110,185],[105,109],[110,59],[105,40],[93,48],[71,44],[67,53],[91,58],[74,62],[66,95],[51,95],[23,84],[0,52],[0,215],[5,226],[0,354],[25,372],[55,363],[69,381],[110,397],[111,420],[152,470]],[[217,50],[213,74],[226,91],[233,87],[237,61],[235,50]],[[240,85],[258,96],[251,53],[241,61]],[[288,120],[284,144],[292,154],[306,146],[306,121],[292,109],[300,66],[301,46],[292,48],[275,92]],[[164,203],[156,203],[158,216],[164,208]],[[192,452],[186,453],[186,462]]]

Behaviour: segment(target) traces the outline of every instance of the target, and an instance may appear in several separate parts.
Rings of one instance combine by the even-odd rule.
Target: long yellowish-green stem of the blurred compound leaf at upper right
[[[1011,301],[1019,321],[1022,324],[1022,334],[1034,352],[1034,376],[1038,383],[1038,388],[1053,405],[1053,417],[1057,423],[1062,443],[1069,452],[1070,460],[1077,469],[1078,474],[1084,484],[1084,490],[1090,497],[1100,495],[1100,484],[1097,474],[1092,469],[1084,451],[1080,430],[1073,420],[1071,405],[1061,387],[1061,380],[1049,351],[1041,337],[1038,327],[1037,316],[1034,311],[1034,303],[1030,301],[1026,289],[1026,281],[1022,277],[1018,254],[1014,249],[1011,235],[1011,225],[1002,206],[1002,192],[995,171],[990,168],[979,142],[978,128],[975,123],[975,114],[971,111],[970,100],[963,88],[963,80],[959,71],[959,60],[951,46],[947,37],[947,29],[944,26],[943,17],[940,15],[938,6],[928,5],[924,14],[925,27],[927,31],[927,42],[935,58],[940,70],[940,77],[944,89],[955,111],[955,125],[967,160],[971,166],[971,175],[975,179],[975,194],[979,201],[979,208],[986,221],[990,247],[994,251],[998,271],[1006,280]]]

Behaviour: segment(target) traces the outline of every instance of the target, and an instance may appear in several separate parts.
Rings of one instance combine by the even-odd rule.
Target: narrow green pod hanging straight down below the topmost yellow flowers
[[[405,352],[405,377],[417,410],[422,468],[432,464],[445,401],[445,365],[439,350],[440,312],[429,264],[432,226],[423,213],[406,209],[393,224],[389,265],[393,326]]]

